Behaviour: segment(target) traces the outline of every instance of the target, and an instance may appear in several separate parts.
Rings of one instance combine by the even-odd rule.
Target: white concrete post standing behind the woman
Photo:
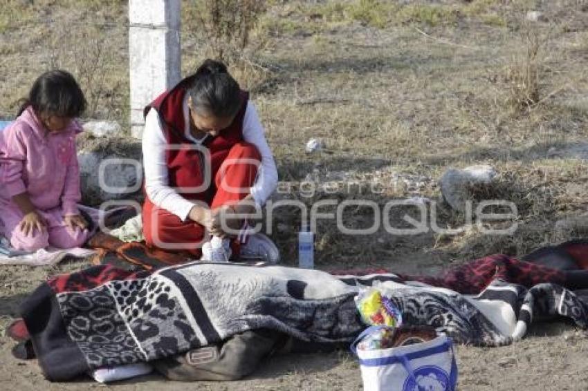
[[[131,134],[143,135],[143,108],[181,79],[180,0],[129,0]]]

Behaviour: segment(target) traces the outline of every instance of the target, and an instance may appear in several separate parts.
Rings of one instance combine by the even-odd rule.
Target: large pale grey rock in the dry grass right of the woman
[[[472,190],[480,185],[490,185],[496,176],[491,166],[470,166],[466,169],[448,169],[439,180],[443,200],[452,209],[466,211],[466,202],[472,200]]]

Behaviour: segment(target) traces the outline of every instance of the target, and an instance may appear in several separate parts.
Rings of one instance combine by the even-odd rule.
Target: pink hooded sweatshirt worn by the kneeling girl
[[[0,207],[18,209],[12,196],[26,191],[39,212],[61,207],[62,216],[78,214],[75,135],[81,131],[72,121],[64,131],[49,133],[30,106],[0,131]]]

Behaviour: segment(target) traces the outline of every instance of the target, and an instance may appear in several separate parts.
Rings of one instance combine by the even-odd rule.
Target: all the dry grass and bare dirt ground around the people
[[[126,126],[127,2],[4,2],[0,117],[10,117],[31,80],[53,64],[82,80],[93,116]],[[437,200],[437,180],[445,169],[491,164],[499,173],[497,183],[475,196],[512,200],[520,215],[515,234],[493,237],[475,228],[457,235],[390,236],[380,229],[371,236],[345,236],[332,221],[320,221],[318,268],[436,274],[488,254],[520,256],[588,235],[586,1],[270,3],[252,35],[264,41],[251,57],[254,68],[264,71],[239,75],[266,128],[280,180],[292,185],[281,197],[307,205],[329,197],[364,198],[380,206],[417,195]],[[546,18],[525,22],[528,10],[541,10]],[[187,74],[203,59],[205,46],[194,22],[189,17],[184,22]],[[325,142],[324,151],[304,153],[311,137]],[[335,195],[324,189],[309,195],[302,180],[341,187]],[[383,191],[360,186],[374,183]],[[463,222],[445,207],[437,218],[443,227]],[[367,227],[371,220],[361,208],[345,216],[348,227]],[[295,265],[299,225],[300,213],[291,209],[271,222],[286,265]],[[83,266],[66,261],[56,267],[0,268],[0,390],[361,388],[358,365],[346,352],[272,358],[235,383],[171,383],[154,375],[108,386],[90,379],[49,383],[35,361],[12,359],[12,342],[3,330],[42,280]],[[507,347],[460,345],[459,390],[587,390],[587,351],[587,334],[564,323],[533,325],[529,336]]]

